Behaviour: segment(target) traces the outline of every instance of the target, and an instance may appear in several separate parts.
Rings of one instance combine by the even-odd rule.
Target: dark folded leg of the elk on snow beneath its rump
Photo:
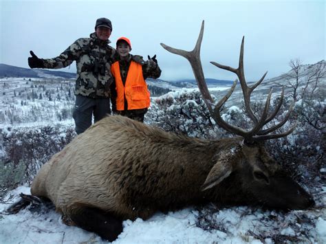
[[[102,239],[114,241],[122,232],[122,219],[111,213],[82,203],[69,206],[68,215],[74,224],[89,232],[95,232]]]

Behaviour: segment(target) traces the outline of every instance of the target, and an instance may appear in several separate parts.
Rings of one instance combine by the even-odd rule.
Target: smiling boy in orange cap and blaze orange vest
[[[144,115],[150,104],[146,78],[159,78],[161,69],[156,55],[146,62],[142,56],[129,54],[131,42],[120,37],[116,42],[118,60],[111,65],[115,81],[111,85],[112,111],[133,120],[144,122]]]

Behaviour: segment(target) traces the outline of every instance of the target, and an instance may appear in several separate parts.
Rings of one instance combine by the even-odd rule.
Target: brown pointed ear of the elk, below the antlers
[[[225,157],[222,157],[213,166],[213,168],[210,170],[210,173],[208,173],[208,176],[204,184],[202,185],[202,191],[216,186],[226,177],[228,177],[230,173],[232,173],[232,166],[230,164],[230,161]]]

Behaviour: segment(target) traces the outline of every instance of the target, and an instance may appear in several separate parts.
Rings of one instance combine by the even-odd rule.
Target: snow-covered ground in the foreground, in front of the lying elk
[[[30,188],[21,186],[13,190],[13,201],[19,199],[20,192],[30,194]],[[325,200],[323,197],[324,203]],[[8,206],[0,204],[0,212]],[[124,231],[113,243],[286,243],[285,240],[326,243],[325,208],[286,214],[246,207],[226,208],[214,211],[209,219],[206,216],[204,222],[211,224],[198,228],[202,216],[201,210],[187,208],[169,214],[157,213],[146,221],[127,220],[123,223]],[[38,212],[26,208],[18,214],[3,214],[2,217],[0,215],[0,243],[3,244],[105,243],[96,234],[63,224],[53,208],[42,208]]]

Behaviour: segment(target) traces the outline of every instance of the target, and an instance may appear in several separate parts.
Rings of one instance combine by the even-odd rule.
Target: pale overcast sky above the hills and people
[[[111,45],[127,36],[131,54],[157,55],[161,78],[193,78],[188,61],[165,51],[160,43],[191,50],[202,20],[202,64],[206,78],[234,80],[215,61],[237,67],[245,36],[248,81],[290,69],[291,59],[305,64],[325,59],[325,1],[23,1],[0,0],[0,63],[28,67],[29,51],[39,58],[58,56],[80,37],[94,32],[96,19],[112,21]],[[76,72],[76,65],[61,69]]]

